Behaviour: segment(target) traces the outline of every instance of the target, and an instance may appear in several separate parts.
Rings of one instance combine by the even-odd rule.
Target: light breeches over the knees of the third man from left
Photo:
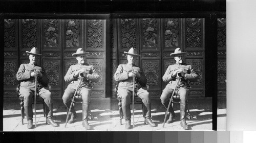
[[[118,88],[118,95],[122,99],[122,106],[130,106],[131,103],[131,97],[133,96],[133,92],[131,90],[128,90],[126,88]],[[146,90],[140,88],[137,90],[137,96],[142,99],[142,102],[146,104],[151,103],[150,93],[148,93]]]

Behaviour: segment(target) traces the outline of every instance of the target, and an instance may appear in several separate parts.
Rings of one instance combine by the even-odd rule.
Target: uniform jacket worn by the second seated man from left
[[[73,87],[74,89],[77,88],[79,81],[78,77],[74,77],[77,70],[83,69],[85,73],[88,74],[88,78],[84,77],[81,86],[83,87],[92,87],[92,82],[99,82],[100,75],[96,72],[96,69],[93,65],[89,65],[87,63],[85,64],[76,64],[71,65],[69,70],[67,71],[67,74],[64,77],[64,80],[66,82],[70,82],[69,86]]]

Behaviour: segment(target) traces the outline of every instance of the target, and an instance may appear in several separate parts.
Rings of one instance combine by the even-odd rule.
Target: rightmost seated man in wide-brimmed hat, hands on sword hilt
[[[180,96],[181,100],[180,125],[183,127],[183,129],[188,130],[189,128],[185,121],[186,101],[190,88],[188,81],[196,82],[199,76],[195,73],[191,65],[183,63],[182,55],[184,55],[185,53],[186,52],[181,52],[180,48],[177,48],[174,53],[170,54],[170,57],[174,57],[174,59],[176,60],[176,64],[169,65],[165,71],[165,74],[163,75],[163,81],[167,82],[168,84],[163,89],[160,99],[164,107],[167,109],[169,104],[169,98],[170,96],[172,96],[172,93],[177,84],[177,78],[181,78],[181,81],[178,83],[176,90],[176,94]],[[171,123],[173,118],[175,117],[172,106],[169,107],[169,113],[169,119],[166,121],[166,123],[168,124]]]

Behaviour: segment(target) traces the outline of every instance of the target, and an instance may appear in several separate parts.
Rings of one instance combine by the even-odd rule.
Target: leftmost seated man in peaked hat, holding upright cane
[[[19,96],[24,99],[24,108],[25,113],[28,120],[28,128],[33,128],[33,112],[32,112],[32,101],[35,90],[35,76],[37,76],[37,92],[39,92],[39,96],[44,99],[46,103],[46,115],[47,115],[47,123],[52,126],[58,126],[53,120],[53,111],[52,111],[52,96],[51,92],[44,88],[44,86],[48,85],[48,78],[44,73],[44,70],[36,64],[38,60],[38,56],[42,56],[38,54],[36,47],[33,47],[29,53],[30,63],[21,64],[19,66],[17,72],[17,80],[20,81],[20,89]]]

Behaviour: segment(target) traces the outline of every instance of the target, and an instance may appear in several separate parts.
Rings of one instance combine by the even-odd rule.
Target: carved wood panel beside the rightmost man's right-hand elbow
[[[200,79],[198,79],[197,82],[190,82],[190,85],[201,85],[202,84],[202,74],[203,74],[203,70],[202,70],[202,63],[199,61],[189,61],[187,64],[190,64],[193,68],[194,71],[199,75]]]

